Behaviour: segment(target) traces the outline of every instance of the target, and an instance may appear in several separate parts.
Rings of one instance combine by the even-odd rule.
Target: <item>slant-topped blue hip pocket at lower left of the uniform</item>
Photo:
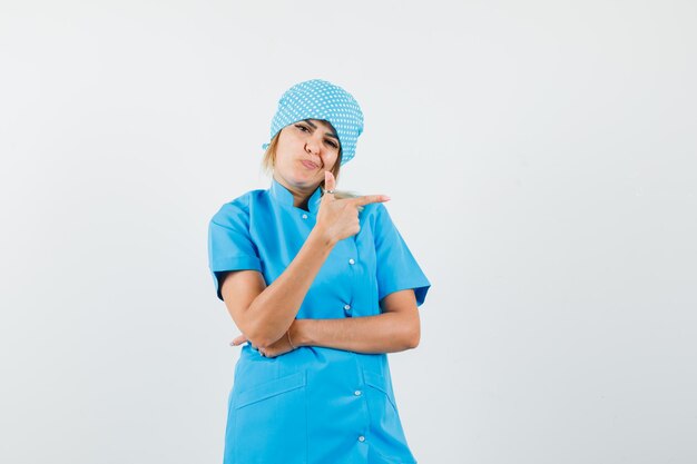
[[[230,414],[235,464],[307,462],[306,374],[300,372],[236,392]]]

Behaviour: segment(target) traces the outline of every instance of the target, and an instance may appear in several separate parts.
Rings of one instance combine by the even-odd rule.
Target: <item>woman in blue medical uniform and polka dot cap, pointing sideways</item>
[[[386,353],[419,344],[430,287],[384,195],[335,191],[363,113],[313,79],[278,100],[265,162],[271,188],[220,207],[210,272],[244,342],[226,464],[415,463]]]

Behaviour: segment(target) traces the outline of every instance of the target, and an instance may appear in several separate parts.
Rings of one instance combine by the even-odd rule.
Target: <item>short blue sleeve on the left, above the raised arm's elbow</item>
[[[249,209],[244,201],[223,205],[208,224],[208,267],[216,294],[226,272],[254,269],[262,272],[258,250],[249,234]]]

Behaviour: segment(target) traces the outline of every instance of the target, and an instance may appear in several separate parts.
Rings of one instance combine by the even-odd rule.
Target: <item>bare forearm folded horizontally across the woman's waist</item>
[[[341,319],[296,319],[291,327],[293,345],[324,346],[355,353],[395,353],[414,348],[419,316],[384,313]]]

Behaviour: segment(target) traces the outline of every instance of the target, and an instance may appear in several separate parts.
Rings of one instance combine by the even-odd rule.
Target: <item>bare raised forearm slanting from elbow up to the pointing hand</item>
[[[253,337],[264,347],[285,335],[334,244],[313,229],[293,261],[247,309]]]

